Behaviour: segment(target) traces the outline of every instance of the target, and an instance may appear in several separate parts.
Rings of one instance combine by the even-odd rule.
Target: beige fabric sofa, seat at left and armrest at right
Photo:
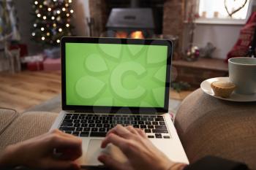
[[[0,109],[0,152],[8,144],[44,134],[57,115]],[[255,102],[222,101],[198,89],[181,103],[174,123],[191,163],[216,155],[256,169]]]

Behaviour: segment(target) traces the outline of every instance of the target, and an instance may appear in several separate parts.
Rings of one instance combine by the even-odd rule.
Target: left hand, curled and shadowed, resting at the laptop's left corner
[[[0,167],[27,166],[34,169],[79,169],[75,159],[82,154],[82,141],[55,129],[42,136],[12,144],[0,155]],[[56,151],[60,154],[53,154]]]

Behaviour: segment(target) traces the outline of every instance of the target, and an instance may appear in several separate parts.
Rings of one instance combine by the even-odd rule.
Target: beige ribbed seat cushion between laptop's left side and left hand
[[[58,114],[52,112],[26,112],[20,115],[0,136],[0,150],[49,131]]]

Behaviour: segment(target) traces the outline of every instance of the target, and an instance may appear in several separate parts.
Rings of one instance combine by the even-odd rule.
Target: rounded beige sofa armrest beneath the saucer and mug
[[[256,103],[223,101],[195,90],[178,109],[175,126],[189,161],[217,155],[256,169]]]

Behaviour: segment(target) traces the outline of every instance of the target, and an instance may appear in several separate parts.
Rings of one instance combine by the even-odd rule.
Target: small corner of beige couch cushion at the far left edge
[[[4,109],[0,108],[0,135],[4,130],[18,117],[18,112],[14,109]]]

